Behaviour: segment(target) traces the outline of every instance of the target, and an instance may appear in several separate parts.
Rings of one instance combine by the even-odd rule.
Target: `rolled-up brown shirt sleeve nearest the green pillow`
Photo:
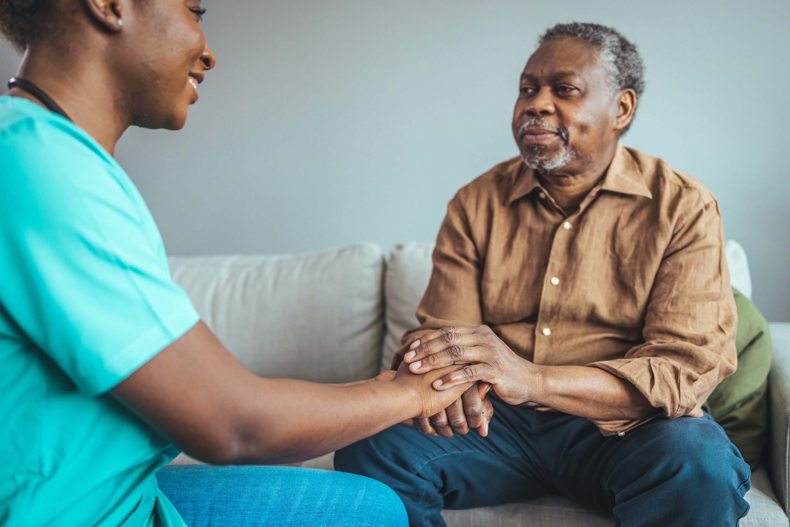
[[[633,384],[656,408],[640,420],[593,420],[604,435],[656,416],[702,416],[702,404],[737,365],[737,312],[715,199],[683,207],[645,313],[645,342],[622,359],[590,363]]]

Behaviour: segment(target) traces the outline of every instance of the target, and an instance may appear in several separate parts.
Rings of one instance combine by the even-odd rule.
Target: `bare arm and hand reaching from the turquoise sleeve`
[[[438,392],[458,367],[349,386],[247,371],[198,322],[111,391],[187,454],[216,465],[316,457],[450,405],[470,384]]]

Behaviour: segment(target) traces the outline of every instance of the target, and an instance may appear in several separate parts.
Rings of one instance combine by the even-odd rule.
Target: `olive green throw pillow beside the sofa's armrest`
[[[771,369],[771,334],[768,322],[750,299],[737,289],[738,369],[713,390],[703,409],[724,428],[743,459],[757,466],[768,438],[768,371]]]

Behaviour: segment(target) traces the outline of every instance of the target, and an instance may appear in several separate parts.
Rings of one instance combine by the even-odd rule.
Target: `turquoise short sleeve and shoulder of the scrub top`
[[[13,126],[0,145],[2,309],[80,390],[106,392],[198,314],[115,160],[65,122]]]

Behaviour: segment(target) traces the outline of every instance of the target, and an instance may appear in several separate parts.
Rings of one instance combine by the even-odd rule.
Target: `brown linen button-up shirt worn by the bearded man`
[[[618,145],[604,179],[568,216],[520,158],[448,205],[419,327],[486,324],[536,364],[599,367],[656,415],[593,421],[611,435],[702,416],[735,371],[737,314],[716,198],[664,160]]]

